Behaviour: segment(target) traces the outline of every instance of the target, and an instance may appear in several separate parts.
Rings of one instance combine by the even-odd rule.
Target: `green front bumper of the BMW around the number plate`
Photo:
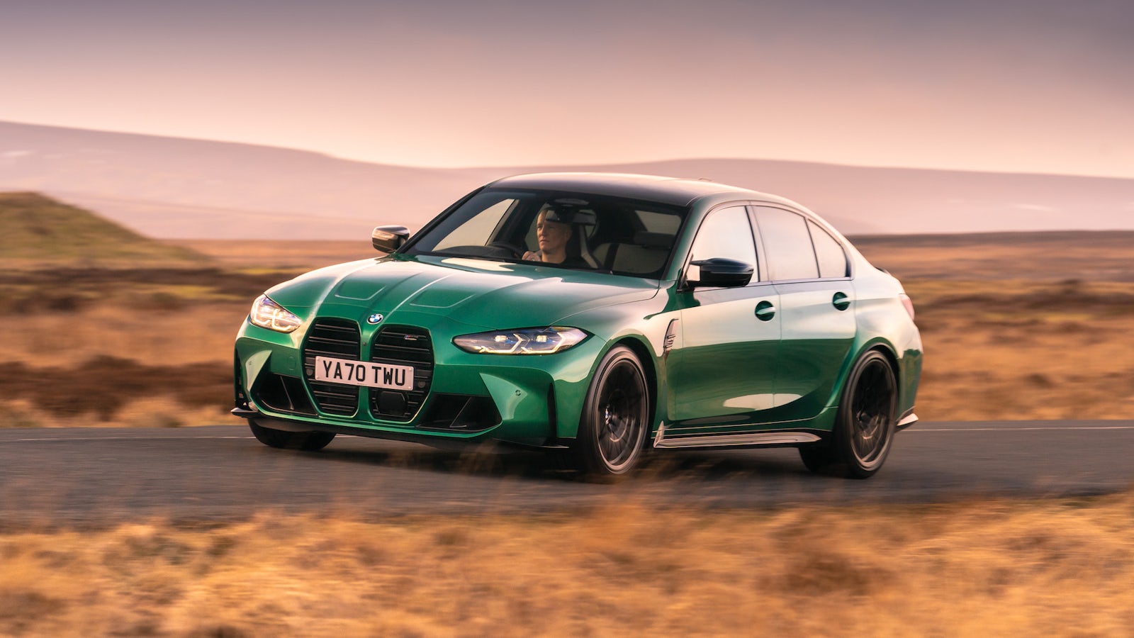
[[[558,447],[574,438],[601,339],[548,355],[473,354],[452,345],[454,336],[475,331],[469,326],[424,319],[426,326],[413,328],[429,336],[432,361],[428,378],[417,379],[418,387],[424,385],[420,396],[408,400],[380,388],[316,383],[312,326],[281,334],[245,324],[235,347],[232,413],[276,429],[433,444],[499,439]],[[354,325],[357,351],[349,356],[344,346],[339,355],[362,361],[372,360],[372,344],[383,330],[405,327]]]

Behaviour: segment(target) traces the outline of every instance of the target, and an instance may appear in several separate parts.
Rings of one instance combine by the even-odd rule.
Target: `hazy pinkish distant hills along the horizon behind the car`
[[[0,123],[0,190],[45,193],[154,237],[365,241],[378,224],[420,227],[472,188],[542,170],[706,177],[796,200],[847,234],[1134,229],[1134,179],[747,159],[415,168]]]

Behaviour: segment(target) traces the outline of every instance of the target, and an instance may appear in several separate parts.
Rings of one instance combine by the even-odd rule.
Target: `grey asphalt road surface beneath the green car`
[[[795,450],[660,452],[628,480],[558,472],[539,453],[439,451],[337,437],[272,450],[244,426],[0,429],[0,527],[146,517],[239,520],[262,511],[515,513],[623,502],[755,509],[797,503],[1058,497],[1134,487],[1134,421],[919,423],[869,480],[809,473]]]

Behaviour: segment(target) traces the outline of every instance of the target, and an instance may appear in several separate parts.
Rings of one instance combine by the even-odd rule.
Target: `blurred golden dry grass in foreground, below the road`
[[[1134,496],[0,536],[10,636],[1129,636]]]

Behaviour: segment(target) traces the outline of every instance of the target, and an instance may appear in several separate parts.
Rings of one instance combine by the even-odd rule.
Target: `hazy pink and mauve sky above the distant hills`
[[[1132,0],[0,0],[0,120],[437,167],[1134,177]]]

